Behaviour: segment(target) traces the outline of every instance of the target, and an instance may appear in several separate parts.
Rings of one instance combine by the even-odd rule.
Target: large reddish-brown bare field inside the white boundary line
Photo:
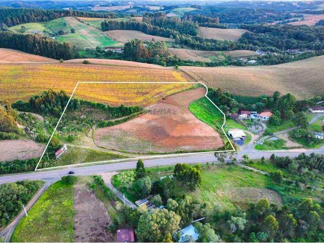
[[[203,97],[204,88],[171,95],[149,106],[149,113],[112,127],[98,129],[97,146],[129,152],[212,150],[223,146],[220,135],[188,109]]]

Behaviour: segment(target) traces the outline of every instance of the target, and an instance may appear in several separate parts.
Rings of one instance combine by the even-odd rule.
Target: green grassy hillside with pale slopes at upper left
[[[47,33],[55,35],[59,30],[62,30],[65,34],[58,35],[55,40],[61,43],[67,42],[80,49],[96,48],[97,46],[123,46],[123,44],[110,39],[97,28],[84,24],[74,17],[63,17],[43,23],[20,24],[10,27],[10,30],[18,31],[21,29],[21,26],[25,27],[27,33],[33,31],[46,31]],[[75,33],[71,33],[71,28],[75,29]]]

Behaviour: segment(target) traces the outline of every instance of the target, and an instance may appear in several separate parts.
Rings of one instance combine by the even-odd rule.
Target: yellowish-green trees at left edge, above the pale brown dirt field
[[[0,140],[16,139],[21,130],[17,126],[18,113],[9,102],[0,104]]]

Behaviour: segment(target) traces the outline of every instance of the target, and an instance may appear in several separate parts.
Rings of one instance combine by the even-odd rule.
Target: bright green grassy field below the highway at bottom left
[[[54,183],[16,227],[13,242],[72,242],[73,186]]]

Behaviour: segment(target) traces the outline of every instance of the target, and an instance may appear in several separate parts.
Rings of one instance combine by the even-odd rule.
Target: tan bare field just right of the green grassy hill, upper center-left
[[[166,37],[160,37],[157,35],[150,35],[145,34],[141,31],[137,30],[109,30],[105,31],[105,34],[117,42],[127,43],[130,42],[132,39],[141,39],[142,41],[152,41],[152,38],[155,39],[155,41],[165,41],[165,42],[172,42],[173,39],[166,38]]]

